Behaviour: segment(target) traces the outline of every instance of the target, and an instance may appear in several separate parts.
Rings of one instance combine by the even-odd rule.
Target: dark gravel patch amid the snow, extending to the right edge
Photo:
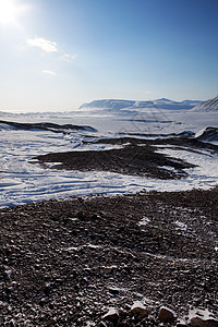
[[[89,142],[84,142],[88,144]],[[137,174],[154,179],[181,179],[186,177],[185,169],[195,167],[179,158],[172,158],[157,152],[159,146],[170,146],[174,149],[198,152],[206,149],[218,153],[218,145],[201,142],[190,136],[145,140],[134,137],[118,137],[97,140],[95,144],[110,144],[120,146],[107,150],[82,150],[55,153],[38,156],[43,167],[56,162],[55,169],[81,171],[111,171],[123,174]],[[57,165],[59,164],[59,165]]]

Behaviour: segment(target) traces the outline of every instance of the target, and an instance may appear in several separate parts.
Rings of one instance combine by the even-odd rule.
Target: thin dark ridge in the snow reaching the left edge
[[[17,130],[43,130],[43,131],[50,131],[55,133],[63,133],[63,130],[68,131],[89,131],[89,132],[97,132],[92,126],[86,125],[72,125],[72,124],[55,124],[49,122],[41,122],[41,123],[20,123],[20,122],[12,122],[12,121],[4,121],[0,120],[0,124],[7,124]]]

